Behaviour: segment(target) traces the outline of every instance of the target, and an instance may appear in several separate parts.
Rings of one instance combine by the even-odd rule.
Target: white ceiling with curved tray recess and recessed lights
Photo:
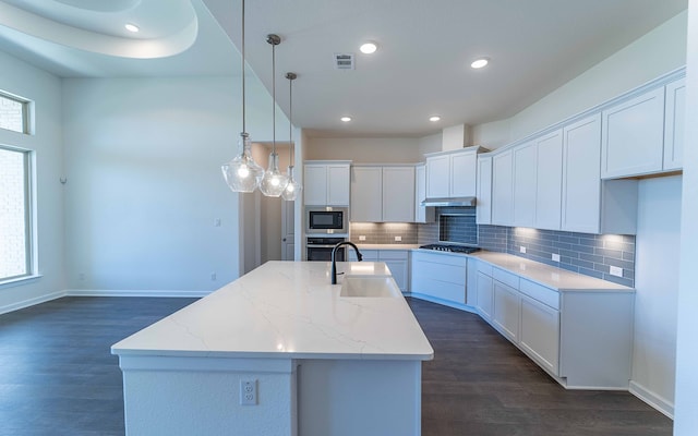
[[[316,134],[424,136],[508,118],[687,8],[687,0],[248,0],[246,60]],[[209,12],[210,11],[210,12]],[[61,76],[239,74],[241,0],[4,0],[0,49]],[[213,15],[213,16],[212,16]],[[136,36],[122,29],[139,24]],[[219,24],[218,24],[219,23]],[[220,28],[222,27],[222,29]],[[225,32],[224,32],[225,31]],[[378,44],[372,56],[358,47]],[[356,55],[356,70],[333,53]],[[491,64],[471,70],[478,57]],[[339,117],[351,116],[351,123]],[[440,114],[440,123],[428,121]]]

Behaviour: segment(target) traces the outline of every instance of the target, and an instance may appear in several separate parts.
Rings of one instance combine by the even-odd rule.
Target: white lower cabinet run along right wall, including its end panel
[[[635,294],[559,292],[478,263],[480,316],[570,389],[627,389]]]

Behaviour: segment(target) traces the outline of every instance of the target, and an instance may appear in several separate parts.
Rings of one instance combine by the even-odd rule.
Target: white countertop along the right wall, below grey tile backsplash
[[[484,261],[497,268],[514,272],[525,279],[557,291],[616,291],[634,292],[635,289],[582,274],[545,265],[540,262],[507,253],[479,251],[468,256]]]

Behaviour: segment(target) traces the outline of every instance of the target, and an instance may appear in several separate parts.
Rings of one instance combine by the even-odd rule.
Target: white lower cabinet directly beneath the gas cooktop
[[[412,293],[466,304],[467,262],[462,255],[412,252]]]

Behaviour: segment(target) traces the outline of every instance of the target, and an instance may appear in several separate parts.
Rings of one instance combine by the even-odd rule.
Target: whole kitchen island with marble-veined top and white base
[[[127,434],[419,435],[426,337],[399,292],[342,296],[329,274],[269,262],[112,346]]]

